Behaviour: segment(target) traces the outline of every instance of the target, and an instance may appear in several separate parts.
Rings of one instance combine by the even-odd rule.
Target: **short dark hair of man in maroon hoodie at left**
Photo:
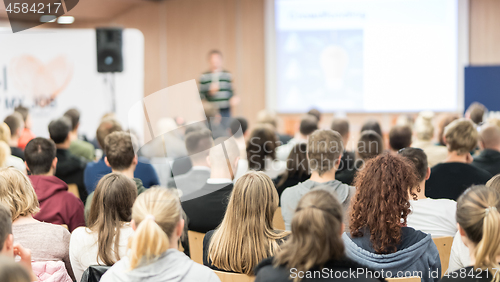
[[[31,174],[46,174],[56,157],[56,144],[50,139],[36,137],[24,148],[24,158]]]

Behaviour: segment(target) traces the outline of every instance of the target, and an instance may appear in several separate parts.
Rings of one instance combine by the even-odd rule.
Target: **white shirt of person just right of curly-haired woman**
[[[457,232],[457,202],[427,198],[411,200],[410,205],[412,212],[407,217],[409,227],[430,233],[433,238],[454,236]]]

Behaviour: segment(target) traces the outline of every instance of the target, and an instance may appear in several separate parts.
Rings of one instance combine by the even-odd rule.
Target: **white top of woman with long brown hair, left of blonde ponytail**
[[[134,234],[134,230],[126,223],[120,229],[120,258],[127,255],[128,239]],[[104,264],[97,261],[97,232],[91,232],[86,227],[78,227],[71,234],[69,243],[69,258],[71,268],[75,273],[76,281],[80,281],[83,272],[91,265]]]

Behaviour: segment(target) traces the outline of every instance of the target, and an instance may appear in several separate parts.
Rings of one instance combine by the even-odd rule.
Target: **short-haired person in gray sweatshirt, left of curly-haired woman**
[[[291,230],[293,214],[300,198],[317,186],[328,186],[329,191],[337,194],[344,210],[349,207],[355,188],[335,179],[335,173],[344,152],[342,136],[333,130],[316,130],[307,143],[307,157],[311,178],[296,186],[286,188],[281,195],[281,213],[286,230]]]

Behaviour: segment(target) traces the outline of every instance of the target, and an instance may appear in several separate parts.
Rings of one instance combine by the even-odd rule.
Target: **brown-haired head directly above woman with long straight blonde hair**
[[[276,159],[278,138],[269,124],[259,124],[252,132],[247,142],[248,167],[251,170],[266,169],[265,159]]]

